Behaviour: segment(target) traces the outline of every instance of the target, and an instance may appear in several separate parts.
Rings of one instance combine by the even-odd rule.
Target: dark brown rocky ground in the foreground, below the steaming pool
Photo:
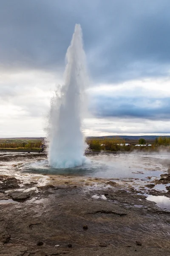
[[[168,177],[148,183],[148,193],[165,195],[153,185],[167,184]],[[102,186],[94,191],[52,175],[40,186],[0,175],[0,255],[170,256],[170,211],[147,201],[144,188],[85,182]]]

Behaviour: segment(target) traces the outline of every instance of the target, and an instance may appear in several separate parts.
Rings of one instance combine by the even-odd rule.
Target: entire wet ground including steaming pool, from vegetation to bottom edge
[[[0,154],[0,255],[170,255],[168,155],[89,159],[58,174],[45,154]]]

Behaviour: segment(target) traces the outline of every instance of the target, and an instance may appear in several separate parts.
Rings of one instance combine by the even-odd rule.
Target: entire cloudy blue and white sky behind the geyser
[[[0,0],[0,137],[45,136],[76,23],[85,134],[170,134],[170,0]]]

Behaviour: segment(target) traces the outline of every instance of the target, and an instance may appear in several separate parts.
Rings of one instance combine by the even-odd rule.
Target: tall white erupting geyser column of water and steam
[[[54,168],[82,166],[86,161],[82,119],[88,76],[79,24],[75,26],[66,59],[65,83],[51,100],[49,118],[48,161]]]

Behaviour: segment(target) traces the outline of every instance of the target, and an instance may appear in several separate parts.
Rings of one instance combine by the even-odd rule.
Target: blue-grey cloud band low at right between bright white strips
[[[98,96],[90,110],[99,118],[170,119],[170,98]]]

